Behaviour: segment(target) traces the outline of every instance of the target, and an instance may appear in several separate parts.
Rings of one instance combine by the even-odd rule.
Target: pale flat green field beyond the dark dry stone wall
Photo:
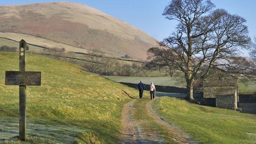
[[[154,82],[155,85],[185,87],[184,80],[176,80],[173,77],[129,77],[129,76],[104,76],[116,82],[139,83],[142,80],[145,84]],[[256,83],[238,82],[238,89],[241,94],[252,93],[256,91]]]

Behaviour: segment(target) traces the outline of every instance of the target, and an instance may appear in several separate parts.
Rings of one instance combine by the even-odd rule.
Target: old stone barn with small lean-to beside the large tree
[[[236,110],[239,103],[238,79],[222,69],[213,68],[203,81],[203,98],[215,101],[216,107]]]

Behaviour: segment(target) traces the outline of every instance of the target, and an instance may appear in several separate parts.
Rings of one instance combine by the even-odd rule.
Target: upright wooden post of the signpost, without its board
[[[25,72],[26,70],[26,53],[25,50],[27,48],[27,43],[23,39],[20,41],[20,72]],[[25,79],[25,78],[23,78]],[[19,128],[19,139],[25,141],[26,139],[26,86],[19,86],[19,94],[20,94],[20,128]]]

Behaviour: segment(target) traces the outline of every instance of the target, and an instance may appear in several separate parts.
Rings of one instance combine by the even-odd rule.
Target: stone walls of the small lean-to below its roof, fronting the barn
[[[237,109],[235,95],[220,95],[216,97],[216,107],[230,110]]]

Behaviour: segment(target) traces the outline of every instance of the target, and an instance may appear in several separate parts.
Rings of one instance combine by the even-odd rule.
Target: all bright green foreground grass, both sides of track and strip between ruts
[[[5,71],[18,71],[18,53],[0,52],[0,143],[117,144],[121,109],[137,91],[64,61],[27,54],[27,71],[42,71],[41,86],[27,86],[27,141],[18,140],[18,86],[5,85]],[[175,94],[174,94],[175,95]],[[182,96],[180,96],[182,97]],[[133,105],[142,133],[172,136],[146,112],[149,92]],[[174,123],[199,144],[253,144],[256,118],[233,110],[161,97],[153,103],[160,117]],[[144,130],[144,131],[143,131]],[[170,140],[169,140],[170,139]]]

